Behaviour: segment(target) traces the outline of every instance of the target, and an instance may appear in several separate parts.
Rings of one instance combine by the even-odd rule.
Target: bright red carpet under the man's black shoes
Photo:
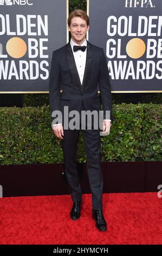
[[[83,194],[80,220],[69,217],[66,196],[0,198],[1,244],[161,244],[162,198],[157,193],[103,194],[108,231],[91,216],[91,194]]]

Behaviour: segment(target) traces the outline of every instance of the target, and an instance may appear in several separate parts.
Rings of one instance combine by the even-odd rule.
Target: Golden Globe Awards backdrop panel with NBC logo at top
[[[0,0],[0,92],[48,92],[52,52],[67,43],[67,0]]]

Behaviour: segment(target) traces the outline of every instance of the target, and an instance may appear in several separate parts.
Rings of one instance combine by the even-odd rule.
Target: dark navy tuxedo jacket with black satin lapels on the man
[[[60,110],[63,114],[63,107],[68,106],[69,112],[80,111],[82,101],[86,111],[99,111],[102,103],[103,119],[113,119],[111,83],[103,49],[87,41],[85,74],[81,84],[72,47],[68,42],[53,51],[49,77],[50,110],[51,113]],[[110,111],[109,118],[106,118],[105,111]]]

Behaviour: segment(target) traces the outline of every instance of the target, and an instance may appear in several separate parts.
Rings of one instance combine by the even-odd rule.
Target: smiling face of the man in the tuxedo
[[[73,41],[81,45],[85,41],[89,26],[87,26],[87,22],[81,17],[74,17],[71,20],[70,27],[68,26],[68,30],[71,32]]]

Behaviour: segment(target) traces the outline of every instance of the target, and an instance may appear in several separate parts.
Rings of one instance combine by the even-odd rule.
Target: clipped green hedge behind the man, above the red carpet
[[[101,161],[160,161],[161,105],[113,105],[111,133],[101,136]],[[0,163],[61,163],[61,141],[49,106],[0,108]],[[77,161],[86,162],[82,132]]]

